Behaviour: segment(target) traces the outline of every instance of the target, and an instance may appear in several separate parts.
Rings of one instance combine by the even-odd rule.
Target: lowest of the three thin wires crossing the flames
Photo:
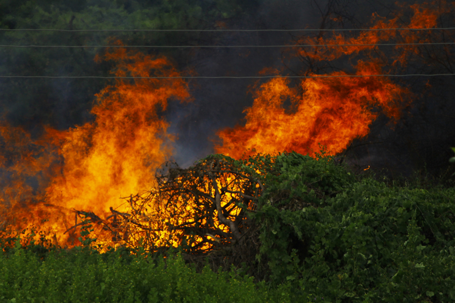
[[[41,79],[271,79],[271,78],[346,78],[346,77],[410,77],[410,76],[455,76],[455,74],[405,74],[405,75],[336,75],[336,76],[178,76],[178,77],[104,77],[104,76],[0,76],[0,78]]]

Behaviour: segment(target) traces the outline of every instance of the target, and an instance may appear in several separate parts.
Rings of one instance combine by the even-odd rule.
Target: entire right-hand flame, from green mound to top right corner
[[[400,73],[405,71],[410,60],[423,57],[422,46],[395,45],[383,50],[379,45],[361,44],[428,43],[434,42],[435,38],[443,41],[444,33],[436,30],[394,29],[437,27],[438,18],[454,6],[444,1],[439,4],[403,5],[391,19],[374,14],[371,30],[360,33],[327,32],[314,37],[304,36],[296,44],[322,46],[295,48],[293,56],[307,65],[302,72],[305,76]],[[403,24],[409,10],[411,17]],[[353,45],[324,46],[326,44]],[[357,62],[349,72],[317,74],[317,66],[324,67],[325,63],[343,56]],[[249,149],[259,153],[294,150],[314,155],[323,145],[334,155],[343,151],[354,138],[368,135],[371,123],[379,115],[378,110],[391,121],[399,119],[402,108],[412,96],[406,87],[388,77],[303,78],[295,86],[283,78],[271,79],[256,88],[253,105],[244,111],[246,124],[219,131],[222,144],[215,149],[217,153],[239,159]]]

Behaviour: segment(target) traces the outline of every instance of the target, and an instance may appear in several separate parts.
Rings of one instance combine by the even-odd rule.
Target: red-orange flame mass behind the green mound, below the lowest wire
[[[357,66],[358,74],[377,72],[374,64],[361,62]],[[324,145],[334,155],[354,138],[369,133],[369,125],[378,116],[375,107],[398,119],[406,93],[388,78],[312,78],[302,80],[298,87],[291,87],[284,78],[274,78],[255,92],[253,106],[245,110],[245,126],[218,133],[223,145],[216,151],[237,159],[248,149],[313,155]],[[286,100],[292,104],[291,111],[283,106]]]

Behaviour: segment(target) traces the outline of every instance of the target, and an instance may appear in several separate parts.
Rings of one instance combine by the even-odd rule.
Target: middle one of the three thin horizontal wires
[[[147,48],[215,48],[215,47],[317,47],[317,46],[380,46],[380,45],[447,45],[455,42],[424,42],[424,43],[370,43],[370,44],[297,44],[297,45],[0,45],[0,47],[65,47],[65,48],[96,48],[96,47],[147,47]]]

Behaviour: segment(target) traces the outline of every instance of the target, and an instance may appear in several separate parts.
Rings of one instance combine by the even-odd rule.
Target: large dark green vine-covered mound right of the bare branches
[[[275,171],[253,214],[273,282],[328,302],[455,299],[455,189],[391,188],[294,153]]]

